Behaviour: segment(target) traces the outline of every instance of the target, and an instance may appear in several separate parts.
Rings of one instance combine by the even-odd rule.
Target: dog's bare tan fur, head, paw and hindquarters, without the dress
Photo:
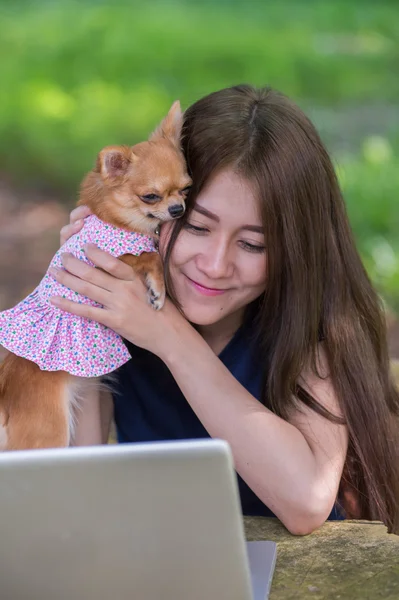
[[[78,204],[102,221],[151,236],[176,216],[191,180],[180,149],[182,113],[175,102],[146,142],[133,147],[108,146],[81,185]],[[155,197],[154,197],[155,196]],[[175,208],[175,212],[171,207]],[[158,310],[165,299],[162,262],[157,252],[120,257],[135,269]],[[42,371],[9,352],[0,365],[0,448],[18,450],[68,446],[79,396],[98,379],[64,371]]]

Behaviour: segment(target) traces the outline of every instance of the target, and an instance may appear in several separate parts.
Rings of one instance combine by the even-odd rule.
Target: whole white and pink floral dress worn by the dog
[[[90,215],[84,220],[82,230],[58,250],[50,266],[63,268],[63,252],[70,252],[93,266],[83,250],[87,243],[115,257],[156,252],[151,237],[114,227]],[[60,310],[50,304],[51,296],[101,306],[58,283],[47,272],[25,300],[0,313],[0,344],[33,361],[43,371],[66,371],[81,377],[105,375],[130,359],[122,338],[112,329]]]

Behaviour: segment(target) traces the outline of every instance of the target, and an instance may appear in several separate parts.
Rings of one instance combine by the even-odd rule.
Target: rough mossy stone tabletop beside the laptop
[[[247,539],[277,543],[270,600],[398,600],[399,536],[380,523],[327,522],[306,537],[277,519],[246,517]]]

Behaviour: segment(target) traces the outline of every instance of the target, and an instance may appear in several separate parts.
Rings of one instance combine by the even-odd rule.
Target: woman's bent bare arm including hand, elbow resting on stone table
[[[289,422],[273,414],[231,375],[170,301],[154,311],[130,267],[93,246],[86,254],[100,269],[64,255],[67,271],[54,271],[54,277],[102,308],[63,298],[54,304],[157,354],[209,434],[229,442],[238,473],[285,526],[296,534],[319,527],[337,496],[346,428],[304,406]],[[322,350],[320,360],[327,368]],[[338,414],[328,378],[309,372],[303,380],[319,402]]]

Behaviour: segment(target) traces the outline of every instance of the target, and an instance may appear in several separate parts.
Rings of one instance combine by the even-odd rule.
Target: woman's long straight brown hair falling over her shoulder
[[[182,144],[194,182],[188,214],[209,178],[226,167],[251,181],[260,199],[268,257],[267,289],[257,304],[265,351],[261,401],[282,418],[304,402],[340,421],[298,384],[309,362],[317,372],[322,339],[349,431],[340,501],[347,516],[381,520],[398,533],[399,394],[385,315],[319,135],[282,94],[240,85],[186,111]],[[165,256],[172,298],[168,261],[184,221],[176,223]]]

